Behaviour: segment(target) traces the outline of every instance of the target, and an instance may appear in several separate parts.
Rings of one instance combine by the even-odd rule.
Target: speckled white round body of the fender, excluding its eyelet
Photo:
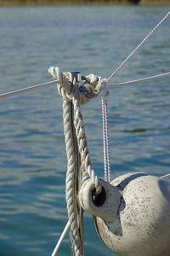
[[[169,256],[170,183],[144,173],[128,173],[111,185],[122,194],[113,212],[116,218],[94,217],[105,245],[120,256]]]

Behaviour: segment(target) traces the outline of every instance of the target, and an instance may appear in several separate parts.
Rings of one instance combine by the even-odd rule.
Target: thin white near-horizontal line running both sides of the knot
[[[162,74],[152,76],[152,77],[149,77],[149,78],[145,78],[145,79],[138,79],[138,80],[128,81],[128,82],[119,83],[119,84],[109,84],[109,86],[111,88],[117,88],[117,87],[122,87],[122,86],[141,84],[141,83],[149,82],[151,80],[162,79],[162,78],[169,77],[169,76],[170,76],[170,73],[162,73]],[[2,94],[0,94],[0,100],[3,100],[5,98],[11,97],[11,96],[17,96],[17,95],[20,95],[22,93],[29,92],[31,90],[37,90],[37,89],[40,89],[40,88],[48,87],[50,85],[56,85],[56,83],[58,83],[58,81],[54,80],[54,81],[50,81],[48,83],[37,84],[37,85],[33,85],[31,87],[26,87],[24,89],[2,93]]]

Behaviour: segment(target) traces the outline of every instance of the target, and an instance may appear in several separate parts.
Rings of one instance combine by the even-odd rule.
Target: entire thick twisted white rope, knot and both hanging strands
[[[66,202],[68,218],[71,227],[71,236],[76,256],[82,256],[82,245],[79,227],[77,223],[77,177],[76,177],[76,155],[73,129],[77,137],[77,145],[81,157],[82,183],[89,177],[93,178],[96,194],[101,191],[99,179],[95,175],[90,161],[88,143],[85,135],[80,104],[84,104],[92,98],[99,96],[100,91],[105,86],[105,81],[94,74],[88,75],[85,82],[78,87],[77,79],[72,73],[61,73],[58,67],[48,69],[54,79],[58,81],[59,94],[63,98],[63,122],[65,131],[65,145],[67,154],[67,173],[66,173]],[[74,127],[72,125],[72,106]]]

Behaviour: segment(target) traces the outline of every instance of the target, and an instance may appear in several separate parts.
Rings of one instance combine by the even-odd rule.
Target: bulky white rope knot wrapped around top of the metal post
[[[74,75],[71,72],[61,73],[59,67],[49,67],[50,73],[57,80],[59,95],[68,102],[72,102],[75,93],[79,104],[89,102],[92,98],[99,96],[101,90],[105,87],[105,79],[94,74],[85,77],[85,82],[75,90]]]

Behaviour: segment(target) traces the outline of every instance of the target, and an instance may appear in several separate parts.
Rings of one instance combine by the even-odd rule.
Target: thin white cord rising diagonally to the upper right
[[[156,31],[156,29],[161,26],[163,21],[167,20],[168,16],[170,15],[170,11],[165,15],[162,20],[152,29],[152,31],[142,40],[142,42],[131,52],[130,55],[127,56],[127,58],[122,61],[121,65],[116,68],[116,70],[111,74],[111,76],[107,79],[107,82],[109,82],[115,74],[122,68],[122,66],[132,57],[132,55],[145,43],[145,41],[150,38],[150,36]]]

